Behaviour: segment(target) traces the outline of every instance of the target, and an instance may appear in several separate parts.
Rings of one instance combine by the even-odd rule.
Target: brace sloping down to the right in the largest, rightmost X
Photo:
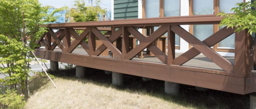
[[[209,46],[198,40],[195,36],[191,35],[191,33],[187,32],[185,29],[181,28],[178,25],[172,25],[171,30],[182,39],[187,41],[189,44],[191,44],[193,48],[203,53],[204,56],[209,58],[212,62],[217,64],[223,70],[227,72],[233,72],[234,65],[231,62],[223,58],[217,52],[213,51]]]

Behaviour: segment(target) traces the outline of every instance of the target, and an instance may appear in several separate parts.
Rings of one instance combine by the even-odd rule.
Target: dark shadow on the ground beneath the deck
[[[177,97],[164,93],[164,81],[151,80],[142,81],[141,77],[124,75],[124,86],[115,87],[112,85],[112,75],[105,74],[103,70],[86,69],[86,77],[75,78],[75,69],[59,70],[52,72],[56,77],[79,81],[84,84],[91,82],[95,85],[113,87],[118,90],[126,90],[130,93],[147,94],[149,96],[161,98],[168,102],[194,107],[194,108],[217,108],[217,109],[249,109],[249,95],[240,95],[218,90],[197,91],[195,86],[181,85],[180,95]],[[46,82],[46,81],[43,81]]]

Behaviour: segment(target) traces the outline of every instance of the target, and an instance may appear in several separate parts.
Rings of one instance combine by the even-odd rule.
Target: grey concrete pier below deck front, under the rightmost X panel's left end
[[[175,82],[165,81],[165,93],[172,96],[178,96],[180,92],[180,84]]]

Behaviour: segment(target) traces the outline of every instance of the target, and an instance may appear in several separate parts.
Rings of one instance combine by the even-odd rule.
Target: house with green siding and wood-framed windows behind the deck
[[[251,0],[112,0],[112,20],[140,19],[151,17],[211,15],[225,11],[233,13],[236,3]],[[254,0],[252,0],[254,1]],[[219,25],[181,25],[197,39],[203,41],[223,28]],[[156,30],[158,27],[154,27]],[[144,35],[146,30],[140,30]],[[222,56],[234,56],[234,34],[212,47]],[[191,48],[178,35],[175,38],[176,52],[186,52]]]

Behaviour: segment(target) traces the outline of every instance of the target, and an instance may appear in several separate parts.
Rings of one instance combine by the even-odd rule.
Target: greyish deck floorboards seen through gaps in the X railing
[[[56,48],[56,49],[54,49],[54,51],[61,51],[61,49]],[[86,53],[86,51],[84,51],[83,48],[76,48],[72,53],[88,55],[88,53]],[[182,53],[176,52],[175,57],[178,57],[181,54]],[[103,57],[115,58],[115,57],[112,57],[111,55],[110,56],[103,56]],[[230,56],[223,56],[223,57],[234,64],[234,57],[230,57]],[[153,56],[145,56],[144,58],[139,58],[138,56],[136,56],[132,60],[162,63],[157,57],[153,57]],[[200,54],[200,55],[194,57],[193,59],[189,60],[188,62],[186,62],[182,66],[191,66],[191,67],[196,67],[196,68],[222,70],[218,65],[216,65],[214,62],[212,62],[211,60],[209,60],[206,56],[204,56],[202,54]]]

